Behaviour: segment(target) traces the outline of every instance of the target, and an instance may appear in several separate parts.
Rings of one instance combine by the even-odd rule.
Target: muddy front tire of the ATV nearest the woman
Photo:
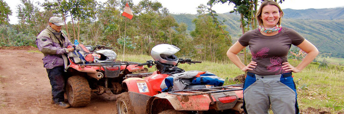
[[[123,92],[118,95],[116,100],[117,114],[135,114],[129,99],[129,93]]]

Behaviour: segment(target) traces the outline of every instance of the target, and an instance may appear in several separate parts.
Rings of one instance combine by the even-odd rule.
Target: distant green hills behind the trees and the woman
[[[334,57],[344,58],[344,8],[331,9],[284,9],[282,26],[292,28],[312,42],[320,52],[333,53]],[[171,14],[178,23],[186,23],[188,32],[195,29],[192,23],[197,15]],[[239,16],[235,13],[218,14],[233,41],[242,35]]]

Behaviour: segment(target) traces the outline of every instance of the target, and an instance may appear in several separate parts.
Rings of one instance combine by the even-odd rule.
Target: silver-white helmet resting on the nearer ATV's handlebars
[[[180,49],[169,44],[160,44],[154,46],[151,51],[151,56],[155,61],[160,63],[176,65],[178,63],[177,56],[174,53],[178,52]]]

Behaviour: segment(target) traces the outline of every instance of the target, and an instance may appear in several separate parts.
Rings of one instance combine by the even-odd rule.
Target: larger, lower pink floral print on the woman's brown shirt
[[[267,66],[266,69],[269,72],[277,72],[276,74],[290,73],[291,71],[285,71],[282,69],[282,59],[280,57],[274,56],[270,58],[271,65]]]

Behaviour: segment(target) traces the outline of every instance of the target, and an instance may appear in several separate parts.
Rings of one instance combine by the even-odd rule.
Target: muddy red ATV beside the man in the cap
[[[96,48],[91,47],[90,49]],[[76,59],[72,57],[73,53],[74,56],[76,56],[75,54],[83,53],[80,55],[83,58],[80,58],[81,60],[86,58],[86,61],[76,63]],[[89,52],[82,44],[79,44],[79,48],[75,48],[73,53],[68,53],[70,64],[66,68],[67,74],[69,75],[66,82],[66,94],[69,104],[74,107],[89,104],[91,92],[98,95],[103,93],[122,93],[123,89],[121,84],[123,77],[143,69],[143,66],[137,66],[139,64],[137,62],[115,61],[116,59],[105,62],[93,62],[93,56],[100,56],[101,53]],[[106,57],[106,54],[101,54],[101,56],[109,58]]]

